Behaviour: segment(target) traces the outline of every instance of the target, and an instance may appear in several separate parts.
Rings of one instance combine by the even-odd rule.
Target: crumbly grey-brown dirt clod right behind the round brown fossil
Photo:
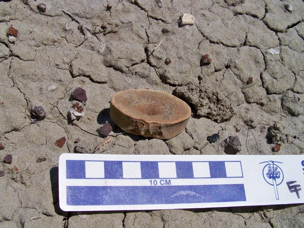
[[[217,89],[208,85],[187,85],[178,87],[176,93],[192,103],[200,116],[208,116],[220,123],[234,114],[234,105]]]

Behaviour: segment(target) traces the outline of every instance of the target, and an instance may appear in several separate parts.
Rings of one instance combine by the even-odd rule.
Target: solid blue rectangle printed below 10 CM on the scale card
[[[246,201],[243,184],[67,186],[67,205],[150,205]]]

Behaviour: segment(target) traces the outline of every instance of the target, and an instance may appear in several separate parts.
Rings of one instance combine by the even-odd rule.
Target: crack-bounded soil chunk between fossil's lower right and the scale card
[[[194,146],[192,138],[185,131],[167,140],[166,144],[172,154],[184,154],[185,150]]]

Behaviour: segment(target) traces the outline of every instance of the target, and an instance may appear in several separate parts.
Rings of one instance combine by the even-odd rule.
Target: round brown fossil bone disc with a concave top
[[[191,109],[181,99],[163,91],[130,89],[112,96],[110,115],[128,133],[171,139],[185,129]]]

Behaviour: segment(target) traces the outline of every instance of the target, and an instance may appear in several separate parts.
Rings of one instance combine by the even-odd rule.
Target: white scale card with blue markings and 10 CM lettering
[[[285,183],[304,188],[302,161],[304,155],[62,154],[59,204],[64,211],[102,211],[304,203],[304,191],[298,198]],[[284,174],[271,185],[274,164]]]

